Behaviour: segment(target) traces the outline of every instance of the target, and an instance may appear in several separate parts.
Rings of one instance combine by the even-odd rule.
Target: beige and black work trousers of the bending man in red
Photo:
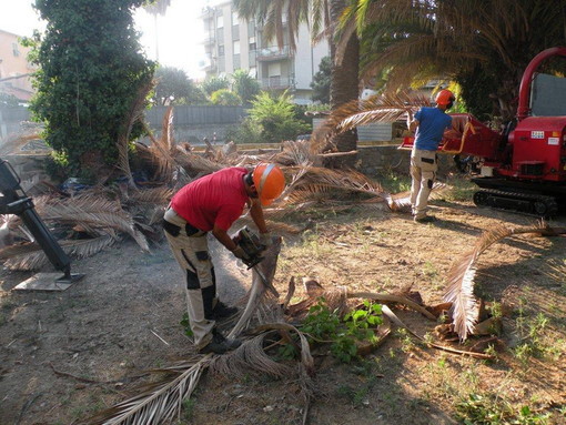
[[[213,305],[218,302],[214,267],[209,254],[206,232],[199,231],[189,236],[186,221],[172,208],[165,211],[165,221],[180,229],[176,236],[165,233],[169,246],[185,274],[186,312],[196,348],[212,340],[215,322],[211,320]]]

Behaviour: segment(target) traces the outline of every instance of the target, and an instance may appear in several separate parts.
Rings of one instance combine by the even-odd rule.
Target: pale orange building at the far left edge
[[[21,45],[19,38],[0,30],[0,93],[12,94],[26,103],[33,94],[30,74],[34,67],[27,59],[29,48]]]

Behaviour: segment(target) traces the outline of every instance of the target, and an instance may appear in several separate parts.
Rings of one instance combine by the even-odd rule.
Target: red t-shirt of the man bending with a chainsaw
[[[233,166],[200,178],[176,192],[171,206],[196,229],[209,232],[216,224],[228,231],[249,200],[245,174],[246,169]]]

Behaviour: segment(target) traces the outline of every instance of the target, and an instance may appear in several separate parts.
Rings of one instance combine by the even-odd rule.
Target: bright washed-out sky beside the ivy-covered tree
[[[141,42],[145,54],[156,59],[155,39],[159,40],[160,63],[184,70],[189,77],[200,79],[200,62],[204,60],[203,24],[199,19],[204,6],[216,1],[208,0],[172,0],[164,17],[158,17],[158,34],[155,21],[143,10],[135,13],[135,24],[142,32]],[[42,30],[42,23],[31,7],[33,0],[0,0],[0,30],[18,36],[31,36],[34,29]]]

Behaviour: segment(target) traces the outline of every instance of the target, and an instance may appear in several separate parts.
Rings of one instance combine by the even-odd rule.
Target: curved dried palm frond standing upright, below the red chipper
[[[451,269],[447,276],[448,289],[444,300],[452,304],[452,316],[454,317],[454,331],[462,341],[473,333],[478,320],[478,302],[474,297],[474,277],[476,273],[476,261],[479,254],[494,243],[504,237],[522,233],[540,234],[548,227],[543,224],[527,229],[511,229],[503,224],[485,231],[476,242],[473,250],[464,254]]]

